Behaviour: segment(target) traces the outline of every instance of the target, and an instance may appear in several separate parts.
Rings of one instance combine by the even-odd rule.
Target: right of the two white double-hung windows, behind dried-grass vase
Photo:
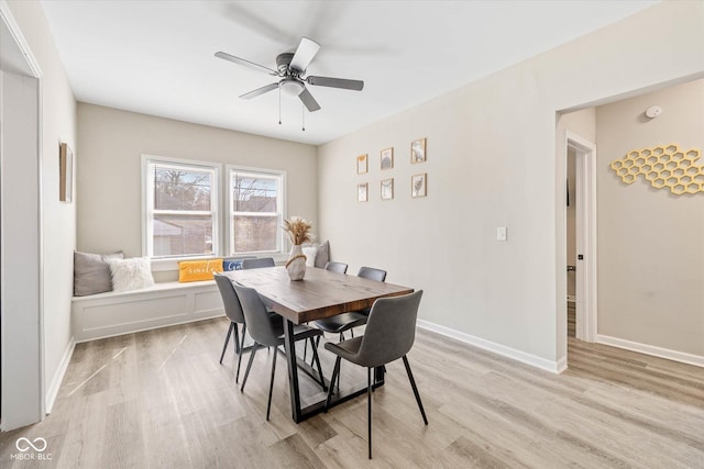
[[[228,168],[228,255],[283,250],[284,174]]]

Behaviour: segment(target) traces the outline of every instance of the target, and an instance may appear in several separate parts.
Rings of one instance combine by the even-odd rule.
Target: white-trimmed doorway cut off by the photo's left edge
[[[41,71],[0,3],[0,429],[45,416]]]

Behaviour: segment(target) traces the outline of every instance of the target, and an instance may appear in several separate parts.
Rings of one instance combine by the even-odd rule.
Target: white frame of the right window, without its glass
[[[233,187],[232,187],[232,177],[234,174],[244,174],[251,176],[262,176],[270,178],[277,178],[279,181],[279,188],[276,200],[277,208],[277,226],[279,227],[276,233],[276,249],[274,250],[256,250],[256,252],[244,252],[244,253],[234,253],[233,242],[234,236],[232,233],[233,217],[235,216],[235,212],[233,210]],[[224,178],[226,183],[222,185],[224,189],[224,236],[223,236],[223,253],[227,257],[237,257],[237,256],[246,256],[246,255],[272,255],[275,258],[277,256],[283,256],[287,254],[287,244],[284,230],[280,226],[286,219],[286,171],[278,169],[267,169],[267,168],[254,168],[249,166],[240,166],[240,165],[226,165],[224,169]],[[238,212],[242,213],[255,213],[255,212]]]

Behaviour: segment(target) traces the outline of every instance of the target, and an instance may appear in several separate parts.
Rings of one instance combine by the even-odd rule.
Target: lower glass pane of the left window
[[[154,214],[154,256],[213,254],[210,215]]]

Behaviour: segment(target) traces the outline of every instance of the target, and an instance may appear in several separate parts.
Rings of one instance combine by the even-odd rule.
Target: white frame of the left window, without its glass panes
[[[191,254],[191,255],[174,255],[174,256],[154,256],[154,185],[153,169],[157,166],[161,167],[174,167],[186,168],[196,171],[212,172],[212,186],[210,188],[210,211],[199,211],[201,214],[210,213],[212,220],[212,253],[211,254]],[[180,159],[169,158],[165,156],[156,155],[142,155],[142,255],[148,257],[153,267],[158,265],[166,266],[164,269],[154,270],[168,270],[175,268],[178,260],[195,260],[207,259],[212,257],[221,257],[221,236],[220,236],[220,181],[221,181],[222,165],[211,161],[200,161],[194,159]],[[162,211],[156,211],[162,212]],[[178,214],[193,214],[193,211],[168,211],[169,213]]]

